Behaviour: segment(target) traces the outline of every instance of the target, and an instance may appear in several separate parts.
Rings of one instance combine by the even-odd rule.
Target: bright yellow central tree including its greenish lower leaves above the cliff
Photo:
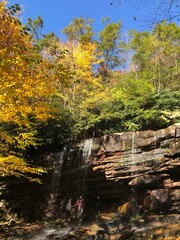
[[[93,109],[93,101],[97,101],[102,92],[101,77],[97,77],[94,71],[101,56],[95,42],[70,41],[59,44],[60,51],[65,52],[64,57],[59,58],[59,64],[67,66],[71,72],[67,83],[60,85],[60,89],[64,106],[70,109],[76,123],[74,133],[77,134],[85,126],[88,129],[94,124],[88,122],[88,119],[92,113],[90,109]]]

